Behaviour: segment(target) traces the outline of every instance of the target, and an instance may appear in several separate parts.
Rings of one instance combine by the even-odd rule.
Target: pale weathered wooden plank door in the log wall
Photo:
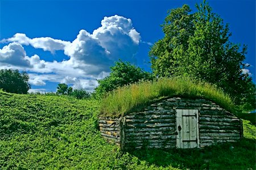
[[[176,109],[176,148],[199,147],[198,110]]]

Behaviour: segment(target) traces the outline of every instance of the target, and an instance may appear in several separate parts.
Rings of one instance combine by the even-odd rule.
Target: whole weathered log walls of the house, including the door
[[[102,136],[122,149],[205,147],[243,135],[241,120],[215,103],[178,97],[122,118],[100,118],[99,126]]]

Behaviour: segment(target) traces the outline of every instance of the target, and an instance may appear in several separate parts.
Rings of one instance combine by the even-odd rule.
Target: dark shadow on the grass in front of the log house
[[[130,154],[159,167],[181,169],[255,169],[255,140],[218,144],[202,149],[134,150]]]

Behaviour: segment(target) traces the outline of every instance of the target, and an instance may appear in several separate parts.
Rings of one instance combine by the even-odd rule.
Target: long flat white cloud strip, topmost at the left
[[[49,37],[30,39],[26,34],[17,33],[13,38],[3,39],[1,42],[17,42],[22,45],[31,45],[34,48],[42,48],[44,51],[54,53],[57,50],[64,50],[64,47],[70,42],[57,40]]]

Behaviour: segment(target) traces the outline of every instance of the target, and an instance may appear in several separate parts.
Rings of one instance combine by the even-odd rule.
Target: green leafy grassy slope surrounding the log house
[[[255,169],[256,128],[248,121],[238,143],[122,153],[101,138],[98,104],[0,92],[0,169]]]

